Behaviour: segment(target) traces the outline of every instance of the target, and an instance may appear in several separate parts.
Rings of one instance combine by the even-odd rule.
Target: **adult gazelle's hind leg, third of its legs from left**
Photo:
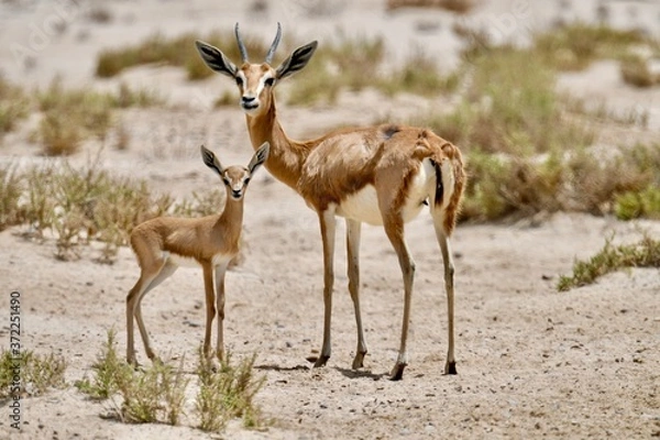
[[[404,275],[404,322],[402,326],[402,341],[398,356],[389,375],[393,381],[399,381],[404,376],[404,369],[408,365],[408,327],[410,324],[410,302],[413,298],[413,283],[415,280],[415,262],[410,256],[408,246],[404,239],[404,220],[400,215],[384,216],[385,233],[394,246],[398,256],[399,266]]]

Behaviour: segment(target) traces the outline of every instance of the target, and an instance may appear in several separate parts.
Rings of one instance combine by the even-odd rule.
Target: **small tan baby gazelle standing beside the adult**
[[[248,167],[222,167],[220,161],[209,150],[201,146],[204,163],[213,169],[227,188],[227,201],[222,213],[197,219],[160,217],[138,226],[131,233],[131,246],[142,270],[140,279],[127,297],[127,361],[135,364],[133,344],[133,317],[138,320],[144,351],[148,359],[155,354],[148,342],[148,334],[142,320],[141,301],[147,292],[169,277],[179,264],[197,262],[204,270],[206,292],[206,332],[204,352],[207,359],[211,352],[211,324],[218,311],[219,359],[222,359],[222,323],[224,320],[224,273],[229,262],[239,253],[239,239],[243,224],[243,196],[254,172],[268,157],[270,144],[265,142],[250,161]],[[213,272],[216,285],[213,286]],[[217,295],[217,296],[216,296]]]

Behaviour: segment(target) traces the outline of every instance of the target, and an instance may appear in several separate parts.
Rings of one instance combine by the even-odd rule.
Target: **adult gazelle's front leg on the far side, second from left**
[[[355,309],[355,323],[358,326],[358,349],[353,359],[353,370],[364,366],[366,343],[364,342],[364,330],[362,328],[362,312],[360,311],[360,232],[362,223],[356,220],[346,219],[346,250],[349,254],[349,292],[353,299]]]

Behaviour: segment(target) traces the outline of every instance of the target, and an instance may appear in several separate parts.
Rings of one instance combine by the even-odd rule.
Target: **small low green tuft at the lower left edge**
[[[0,398],[41,396],[51,388],[64,386],[64,358],[53,353],[41,355],[23,350],[0,351]]]

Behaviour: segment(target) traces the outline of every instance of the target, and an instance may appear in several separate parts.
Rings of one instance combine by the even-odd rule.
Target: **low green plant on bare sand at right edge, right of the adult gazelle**
[[[562,275],[557,284],[559,292],[594,283],[598,277],[626,267],[660,267],[660,241],[645,233],[635,244],[614,246],[613,238],[588,261],[575,261],[573,274]]]

